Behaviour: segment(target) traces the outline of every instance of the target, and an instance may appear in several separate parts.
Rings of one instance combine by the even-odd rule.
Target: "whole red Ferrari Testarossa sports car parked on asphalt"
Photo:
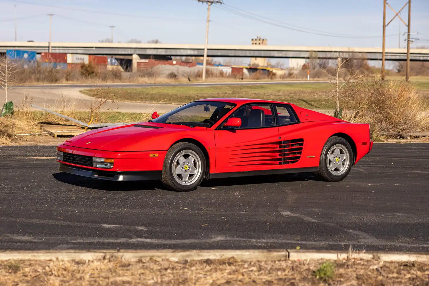
[[[203,178],[298,172],[341,181],[372,149],[369,124],[277,101],[201,99],[152,118],[66,140],[57,147],[60,171],[161,180],[178,191],[195,190]]]

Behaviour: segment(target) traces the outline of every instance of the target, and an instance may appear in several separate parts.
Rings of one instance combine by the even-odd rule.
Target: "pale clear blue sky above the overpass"
[[[146,42],[160,39],[163,43],[203,43],[207,5],[196,0],[0,0],[0,41],[14,40],[14,6],[18,17],[18,41],[41,41],[49,39],[49,18],[52,18],[53,42],[97,42],[110,37],[109,25],[115,25],[115,42],[125,42],[136,38]],[[399,10],[405,0],[389,0],[390,5]],[[29,3],[47,5],[32,5]],[[275,21],[276,24],[292,24],[312,30],[329,33],[381,36],[382,0],[224,0],[225,6],[215,5],[211,9],[209,43],[250,44],[250,39],[260,35],[268,39],[269,45],[312,45],[312,46],[354,46],[381,47],[381,37],[355,39],[327,37],[302,33],[277,27],[224,9],[232,7],[254,13]],[[124,15],[105,15],[48,6],[95,10]],[[412,0],[411,32],[416,41],[412,45],[429,45],[429,0]],[[407,21],[408,8],[401,14]],[[135,15],[139,17],[133,17]],[[387,7],[387,20],[394,13]],[[148,17],[148,18],[145,18]],[[266,21],[271,21],[267,20]],[[288,26],[291,27],[291,26]],[[301,29],[301,28],[297,28]],[[404,24],[401,31],[405,32]],[[387,47],[398,47],[399,19],[387,27]],[[402,36],[401,46],[405,36]]]

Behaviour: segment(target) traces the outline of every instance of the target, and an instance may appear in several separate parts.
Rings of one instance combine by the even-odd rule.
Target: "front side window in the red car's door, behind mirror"
[[[238,117],[242,125],[236,129],[261,128],[274,126],[270,105],[250,105],[234,112],[230,117]]]

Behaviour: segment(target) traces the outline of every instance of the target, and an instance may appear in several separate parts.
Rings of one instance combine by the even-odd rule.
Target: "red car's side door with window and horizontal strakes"
[[[215,173],[283,169],[279,156],[279,133],[271,104],[246,105],[230,117],[242,125],[215,130]]]

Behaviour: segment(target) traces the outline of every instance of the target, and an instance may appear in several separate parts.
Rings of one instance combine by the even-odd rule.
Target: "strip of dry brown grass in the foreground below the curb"
[[[322,260],[236,259],[131,262],[114,256],[95,261],[2,261],[0,285],[429,285],[429,265],[377,260],[331,261],[335,274],[314,275]]]

